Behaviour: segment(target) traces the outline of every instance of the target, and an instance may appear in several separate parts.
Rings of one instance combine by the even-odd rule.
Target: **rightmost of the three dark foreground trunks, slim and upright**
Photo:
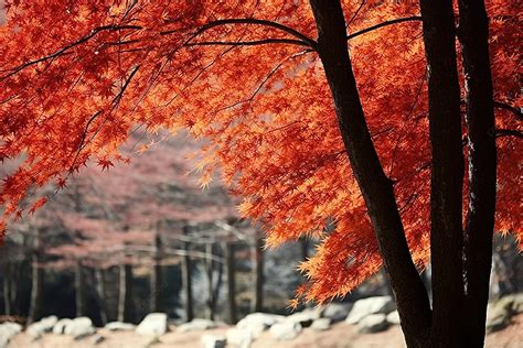
[[[482,347],[492,264],[497,166],[489,19],[483,1],[460,0],[458,3],[469,150],[469,207],[465,244],[466,324],[470,347]]]

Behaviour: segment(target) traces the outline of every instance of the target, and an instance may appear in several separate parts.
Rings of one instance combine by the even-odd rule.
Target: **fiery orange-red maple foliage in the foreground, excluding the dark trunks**
[[[421,267],[429,257],[430,143],[419,6],[344,1],[343,9],[372,140]],[[521,243],[513,137],[521,134],[520,11],[516,1],[500,0],[489,1],[488,12],[495,230],[519,233]],[[387,21],[394,22],[372,29]],[[61,189],[85,165],[128,161],[119,149],[138,129],[186,129],[209,139],[202,184],[220,167],[244,197],[241,213],[267,227],[269,246],[303,235],[321,239],[301,265],[311,280],[301,294],[319,302],[346,294],[382,259],[314,50],[316,30],[301,1],[7,1],[0,160],[19,165],[1,184],[2,229],[50,198],[40,194],[45,185]]]

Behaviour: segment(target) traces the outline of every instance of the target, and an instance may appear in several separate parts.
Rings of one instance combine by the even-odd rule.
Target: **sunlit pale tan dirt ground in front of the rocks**
[[[172,330],[153,341],[153,339],[131,333],[108,333],[99,329],[98,334],[105,340],[96,347],[99,348],[201,348],[201,338],[205,334],[225,335],[226,328],[217,328],[205,331],[193,331],[179,334]],[[9,346],[10,348],[83,348],[94,347],[93,337],[74,341],[71,337],[55,336],[52,334],[43,336],[36,341],[31,341],[28,335],[17,335]],[[276,341],[269,334],[264,333],[254,344],[253,348],[403,348],[405,342],[399,326],[392,326],[388,330],[380,334],[361,335],[354,326],[343,323],[335,324],[325,331],[314,331],[309,328],[290,341]],[[523,314],[512,318],[512,325],[505,329],[487,336],[488,348],[523,348]]]

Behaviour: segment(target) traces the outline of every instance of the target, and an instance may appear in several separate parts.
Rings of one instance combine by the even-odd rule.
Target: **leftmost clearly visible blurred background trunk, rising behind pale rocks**
[[[44,274],[41,264],[42,260],[40,249],[40,230],[36,229],[32,254],[31,301],[29,304],[28,324],[34,323],[42,317],[42,289]]]

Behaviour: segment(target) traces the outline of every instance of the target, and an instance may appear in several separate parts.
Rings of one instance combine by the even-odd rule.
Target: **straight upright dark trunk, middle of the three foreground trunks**
[[[463,153],[451,0],[420,0],[431,143],[430,257],[434,347],[463,347]]]

